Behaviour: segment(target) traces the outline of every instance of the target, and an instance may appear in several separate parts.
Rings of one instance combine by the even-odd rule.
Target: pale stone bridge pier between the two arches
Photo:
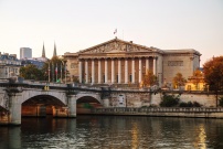
[[[67,117],[76,117],[76,95],[68,95],[67,96]]]

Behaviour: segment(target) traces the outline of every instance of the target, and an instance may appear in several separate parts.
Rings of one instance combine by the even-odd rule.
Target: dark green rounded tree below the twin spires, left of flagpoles
[[[35,65],[29,64],[20,68],[20,76],[25,79],[44,81],[44,74]]]

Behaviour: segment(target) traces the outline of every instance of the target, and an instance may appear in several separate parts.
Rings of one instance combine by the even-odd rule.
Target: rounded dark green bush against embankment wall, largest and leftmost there
[[[161,107],[174,107],[179,104],[179,96],[174,95],[163,95],[162,100],[160,103]]]

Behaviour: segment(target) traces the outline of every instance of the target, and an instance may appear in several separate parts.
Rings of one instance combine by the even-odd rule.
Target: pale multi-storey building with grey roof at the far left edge
[[[18,76],[21,66],[21,61],[17,58],[17,54],[1,54],[0,52],[0,78]]]

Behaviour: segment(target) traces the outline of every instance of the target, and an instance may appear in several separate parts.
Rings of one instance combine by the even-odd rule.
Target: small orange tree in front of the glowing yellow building
[[[191,83],[193,83],[195,85],[195,88],[198,91],[199,83],[203,83],[204,82],[203,72],[201,72],[199,68],[197,68],[193,72],[193,76],[190,77],[189,79],[191,81]]]

